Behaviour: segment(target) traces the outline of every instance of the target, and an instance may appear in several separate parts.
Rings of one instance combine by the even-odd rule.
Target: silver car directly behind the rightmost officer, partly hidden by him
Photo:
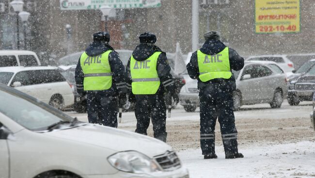
[[[279,108],[287,95],[287,78],[284,71],[272,61],[246,61],[244,68],[233,71],[236,91],[233,94],[234,109],[244,104],[269,103]],[[187,112],[199,106],[197,80],[190,80],[180,92],[180,104]]]

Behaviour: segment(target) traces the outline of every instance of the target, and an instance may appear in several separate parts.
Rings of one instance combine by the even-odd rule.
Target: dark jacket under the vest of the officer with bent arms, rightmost
[[[201,52],[207,55],[215,55],[220,53],[226,46],[220,40],[208,40],[203,44],[200,48]],[[235,71],[239,71],[244,67],[244,59],[240,57],[236,51],[232,48],[229,48],[229,60],[230,60],[230,68]],[[216,78],[209,80],[207,82],[202,82],[199,79],[199,68],[198,68],[198,58],[197,51],[192,53],[190,58],[190,62],[187,64],[187,71],[192,79],[198,79],[198,89],[203,89],[206,86],[214,85],[218,86],[220,89],[226,90],[235,90],[236,82],[234,74],[229,79],[224,78]]]

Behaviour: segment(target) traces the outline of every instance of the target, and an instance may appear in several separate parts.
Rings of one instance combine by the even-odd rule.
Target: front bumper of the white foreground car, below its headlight
[[[179,168],[173,171],[156,172],[151,174],[133,174],[119,171],[113,175],[85,175],[82,178],[189,178],[186,168]]]

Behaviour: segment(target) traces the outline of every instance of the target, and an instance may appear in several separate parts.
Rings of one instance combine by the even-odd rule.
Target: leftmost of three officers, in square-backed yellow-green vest
[[[126,104],[125,68],[110,46],[108,32],[93,34],[90,44],[79,58],[76,68],[77,92],[87,95],[90,123],[117,127],[117,96]]]

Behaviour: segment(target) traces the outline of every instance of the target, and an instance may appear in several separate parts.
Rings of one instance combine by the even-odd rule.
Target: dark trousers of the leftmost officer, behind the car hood
[[[90,123],[117,127],[116,97],[104,95],[102,91],[87,92],[87,110]]]

